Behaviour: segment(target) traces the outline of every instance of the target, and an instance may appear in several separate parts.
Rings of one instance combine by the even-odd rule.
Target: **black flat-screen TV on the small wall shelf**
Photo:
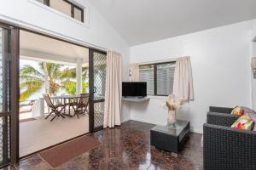
[[[124,97],[145,97],[147,96],[147,82],[123,82]]]

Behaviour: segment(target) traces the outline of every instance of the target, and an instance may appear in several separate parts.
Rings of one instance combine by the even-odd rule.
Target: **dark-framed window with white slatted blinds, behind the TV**
[[[140,65],[140,81],[147,82],[148,95],[172,94],[175,62]]]

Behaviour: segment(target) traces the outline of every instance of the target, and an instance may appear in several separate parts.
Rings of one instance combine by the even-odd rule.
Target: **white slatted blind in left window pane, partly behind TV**
[[[154,95],[154,68],[140,69],[140,82],[147,82],[147,94]]]

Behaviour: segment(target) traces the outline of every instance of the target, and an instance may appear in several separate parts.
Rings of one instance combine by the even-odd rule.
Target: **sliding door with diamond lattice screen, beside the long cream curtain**
[[[90,49],[90,132],[103,128],[107,54]]]

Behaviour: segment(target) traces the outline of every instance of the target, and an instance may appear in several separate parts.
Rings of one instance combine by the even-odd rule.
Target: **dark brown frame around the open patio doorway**
[[[14,52],[11,54],[11,59],[13,61],[13,65],[11,68],[11,77],[12,77],[12,84],[11,84],[11,89],[12,89],[12,93],[11,93],[11,99],[15,99],[14,101],[12,101],[12,107],[14,105],[13,110],[11,111],[11,115],[10,115],[10,164],[11,165],[15,165],[19,162],[20,158],[24,158],[26,156],[19,156],[19,144],[20,144],[20,115],[19,115],[19,109],[20,109],[20,104],[19,104],[19,99],[20,99],[20,30],[21,31],[28,31],[28,32],[32,32],[34,34],[38,34],[44,37],[49,37],[49,38],[53,38],[55,40],[59,40],[61,42],[67,42],[67,43],[71,43],[73,45],[77,45],[83,48],[88,48],[89,49],[89,82],[90,82],[90,67],[93,65],[91,65],[90,63],[90,52],[92,50],[96,51],[97,53],[102,53],[102,54],[107,54],[107,51],[102,50],[100,48],[93,48],[90,47],[88,45],[79,43],[79,42],[73,42],[72,40],[67,40],[65,39],[65,36],[58,36],[58,35],[51,35],[50,33],[44,33],[42,31],[38,31],[38,30],[34,30],[34,29],[28,29],[26,26],[15,26],[13,24],[9,24],[9,23],[4,23],[3,21],[0,21],[0,27],[3,28],[7,28],[7,29],[11,29],[11,31],[13,32],[12,36],[11,36],[11,41],[12,43],[12,50],[14,50]],[[92,63],[93,64],[93,63]],[[90,87],[89,87],[90,88]],[[89,90],[90,91],[90,90]],[[90,91],[90,92],[93,92]],[[89,93],[90,93],[89,92]],[[91,96],[91,94],[90,94]],[[89,106],[91,104],[89,103]],[[90,107],[92,108],[92,107]],[[89,113],[89,127],[93,126],[94,120],[93,120],[93,114]],[[91,121],[92,120],[92,121]],[[92,133],[93,130],[89,130],[89,133]],[[84,133],[87,134],[87,133]],[[82,135],[84,135],[82,134]],[[79,138],[81,135],[79,135],[78,137],[75,137],[73,139]],[[70,140],[70,139],[69,139]],[[67,141],[69,141],[67,140]],[[60,144],[64,143],[66,141],[61,142]],[[50,146],[46,149],[49,149],[51,147],[55,147],[58,144],[55,144],[53,146]],[[45,149],[44,149],[45,150]],[[42,151],[42,150],[39,150]],[[37,151],[38,152],[38,151]],[[37,153],[36,152],[36,153]],[[35,153],[32,153],[35,154]],[[31,156],[31,155],[28,155]],[[9,165],[9,164],[8,164]],[[8,165],[4,165],[8,166]],[[1,167],[0,167],[1,168]]]

